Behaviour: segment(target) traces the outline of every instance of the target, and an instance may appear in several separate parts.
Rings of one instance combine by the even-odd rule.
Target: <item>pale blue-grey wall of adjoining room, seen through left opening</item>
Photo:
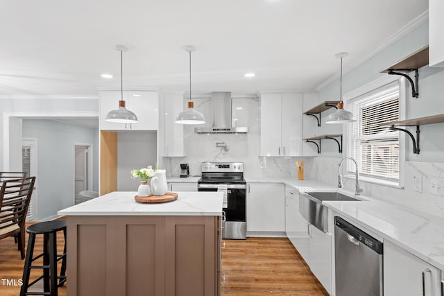
[[[44,119],[24,119],[23,137],[37,139],[37,218],[45,220],[74,204],[74,144],[91,144],[93,190],[99,191],[97,128]]]

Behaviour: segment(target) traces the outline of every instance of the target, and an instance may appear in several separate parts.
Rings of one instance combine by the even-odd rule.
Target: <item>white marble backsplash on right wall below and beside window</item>
[[[310,178],[336,186],[338,184],[337,175],[340,160],[339,158],[316,157],[312,162]],[[413,190],[413,177],[422,178],[422,192]],[[404,189],[361,180],[359,184],[364,189],[363,195],[444,218],[444,196],[429,193],[432,177],[444,178],[444,163],[405,162]],[[343,184],[345,189],[355,191],[354,178],[344,178]]]

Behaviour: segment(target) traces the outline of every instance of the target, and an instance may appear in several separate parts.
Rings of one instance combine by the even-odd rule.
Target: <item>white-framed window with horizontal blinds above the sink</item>
[[[357,117],[350,124],[350,156],[357,160],[362,176],[398,182],[400,180],[399,132],[379,126],[400,119],[400,86],[392,82],[350,101]],[[348,168],[354,171],[355,168]]]

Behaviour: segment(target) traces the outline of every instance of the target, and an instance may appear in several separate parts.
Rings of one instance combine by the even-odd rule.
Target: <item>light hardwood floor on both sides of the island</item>
[[[34,254],[42,252],[40,237],[37,236]],[[64,243],[61,233],[57,241],[61,254]],[[19,286],[8,286],[2,279],[17,283],[22,279],[23,266],[24,260],[20,259],[14,238],[0,240],[1,296],[19,295]],[[328,295],[287,238],[225,240],[222,269],[225,272],[223,296]],[[31,277],[37,277],[39,272],[35,270]],[[58,295],[66,295],[66,285],[58,289]]]

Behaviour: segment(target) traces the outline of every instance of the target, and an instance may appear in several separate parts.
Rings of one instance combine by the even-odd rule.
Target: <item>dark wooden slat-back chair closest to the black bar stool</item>
[[[25,221],[35,177],[4,180],[0,189],[0,239],[17,236],[22,259],[25,257]]]

